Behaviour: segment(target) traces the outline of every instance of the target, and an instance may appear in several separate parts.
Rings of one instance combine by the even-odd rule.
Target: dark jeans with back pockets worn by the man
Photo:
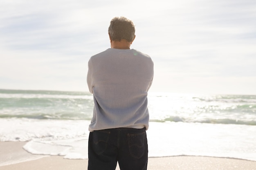
[[[146,170],[146,129],[114,128],[90,132],[88,170]]]

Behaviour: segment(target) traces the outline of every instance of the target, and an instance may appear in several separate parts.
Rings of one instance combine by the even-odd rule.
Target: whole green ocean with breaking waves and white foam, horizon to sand
[[[0,90],[0,141],[32,154],[88,158],[88,92]],[[149,157],[256,161],[256,95],[148,93]]]

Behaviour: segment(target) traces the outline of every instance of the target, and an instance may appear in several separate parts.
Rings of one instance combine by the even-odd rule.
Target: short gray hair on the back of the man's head
[[[124,39],[132,42],[135,35],[135,26],[128,18],[115,17],[110,21],[108,33],[113,41]]]

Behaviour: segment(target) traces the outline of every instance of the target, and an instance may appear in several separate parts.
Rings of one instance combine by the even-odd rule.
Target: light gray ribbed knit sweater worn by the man
[[[107,49],[90,58],[87,84],[94,110],[89,131],[109,128],[148,129],[147,94],[153,61],[135,49]]]

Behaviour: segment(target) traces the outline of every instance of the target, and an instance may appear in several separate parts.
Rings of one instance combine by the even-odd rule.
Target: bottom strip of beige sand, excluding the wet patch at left
[[[63,159],[50,156],[33,161],[0,166],[0,170],[78,170],[87,169],[88,159]],[[148,159],[148,170],[255,170],[256,161],[241,159],[173,156]],[[120,170],[117,165],[116,170]]]

